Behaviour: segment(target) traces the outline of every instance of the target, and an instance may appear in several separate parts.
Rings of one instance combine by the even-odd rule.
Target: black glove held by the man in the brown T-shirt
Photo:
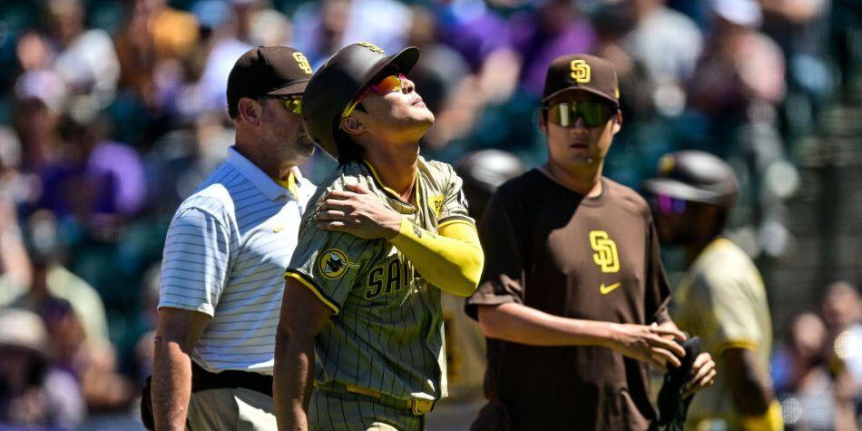
[[[685,393],[685,384],[691,377],[694,359],[700,355],[700,338],[692,337],[680,344],[685,348],[685,358],[681,358],[682,365],[669,367],[659,391],[659,426],[674,431],[682,429],[691,404],[692,396],[682,397],[682,394]]]

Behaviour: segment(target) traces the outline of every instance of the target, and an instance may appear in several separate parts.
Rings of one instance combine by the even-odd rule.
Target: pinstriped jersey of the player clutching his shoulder
[[[446,220],[472,222],[461,179],[445,163],[419,158],[416,206],[387,191],[364,162],[340,167],[310,205],[317,208],[328,191],[342,190],[345,181],[366,184],[389,207],[432,232]],[[400,399],[446,397],[440,290],[429,286],[387,240],[318,230],[314,212],[307,211],[302,220],[285,275],[298,279],[337,313],[315,341],[318,386],[337,381]],[[335,256],[347,261],[332,266]],[[327,420],[309,413],[311,422]]]

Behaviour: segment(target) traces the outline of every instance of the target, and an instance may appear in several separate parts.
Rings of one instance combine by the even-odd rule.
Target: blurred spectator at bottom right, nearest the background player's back
[[[824,354],[827,329],[814,313],[793,318],[787,348],[778,357],[776,392],[788,430],[857,429],[852,398],[842,393],[838,375]]]

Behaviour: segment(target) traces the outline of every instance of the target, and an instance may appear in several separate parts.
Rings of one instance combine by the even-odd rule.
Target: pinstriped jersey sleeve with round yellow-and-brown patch
[[[320,230],[313,220],[308,221],[299,231],[285,277],[298,280],[338,314],[368,262],[381,250],[382,242]]]

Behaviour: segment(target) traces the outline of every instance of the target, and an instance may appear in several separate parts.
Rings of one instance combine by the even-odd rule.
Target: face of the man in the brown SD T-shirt
[[[568,127],[559,124],[550,110],[559,103],[593,102],[604,103],[610,110],[607,120],[593,127],[587,125],[583,116],[577,116]],[[552,162],[568,168],[596,166],[604,160],[611,149],[613,135],[620,131],[622,117],[610,103],[592,93],[582,91],[563,93],[548,103],[542,131],[548,138],[548,152]]]

